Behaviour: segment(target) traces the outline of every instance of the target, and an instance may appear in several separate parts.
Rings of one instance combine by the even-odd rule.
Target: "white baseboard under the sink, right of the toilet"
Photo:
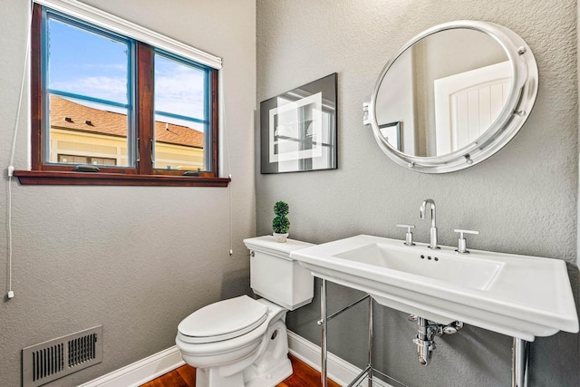
[[[288,331],[288,350],[302,362],[320,372],[320,363],[322,363],[322,361],[320,347],[318,345],[309,342],[304,339],[304,337],[299,336],[292,331]],[[348,385],[362,372],[360,368],[351,363],[345,362],[333,353],[328,353],[328,356],[326,357],[326,370],[328,372],[328,377],[342,386]],[[373,378],[372,385],[373,387],[393,387],[391,384],[382,382],[377,378]],[[367,382],[363,382],[361,386],[367,386]]]

